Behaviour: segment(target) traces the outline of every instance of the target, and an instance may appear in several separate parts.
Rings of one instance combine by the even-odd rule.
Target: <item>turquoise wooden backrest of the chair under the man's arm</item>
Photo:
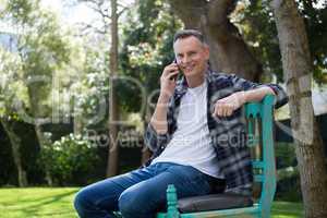
[[[272,95],[267,95],[262,102],[245,105],[247,142],[252,147],[254,181],[262,184],[258,205],[263,217],[269,216],[276,192],[272,108]]]

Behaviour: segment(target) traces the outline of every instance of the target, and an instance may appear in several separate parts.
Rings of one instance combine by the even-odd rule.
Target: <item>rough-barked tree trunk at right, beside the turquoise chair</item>
[[[294,0],[274,0],[282,66],[299,162],[305,217],[327,217],[327,174],[323,142],[312,106],[313,65],[304,21]]]

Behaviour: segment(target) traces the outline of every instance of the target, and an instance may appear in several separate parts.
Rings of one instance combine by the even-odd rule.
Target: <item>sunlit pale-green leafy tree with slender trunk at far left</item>
[[[11,0],[5,4],[4,15],[15,29],[22,82],[28,96],[27,113],[23,107],[15,110],[25,122],[35,125],[40,148],[49,144],[44,136],[41,124],[51,119],[52,81],[56,72],[70,61],[70,46],[50,11],[40,9],[39,0]],[[51,185],[47,169],[46,179]]]

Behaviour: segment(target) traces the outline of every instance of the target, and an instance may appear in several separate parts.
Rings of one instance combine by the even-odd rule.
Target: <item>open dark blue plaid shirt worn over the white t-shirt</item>
[[[276,84],[256,84],[233,74],[208,71],[206,81],[208,84],[207,124],[211,145],[214,146],[218,158],[217,167],[226,179],[226,192],[251,195],[253,174],[250,149],[246,146],[244,107],[235,110],[230,117],[216,118],[211,116],[215,102],[235,92],[249,90],[263,86],[268,86],[275,92],[275,108],[284,105],[288,101],[288,97],[282,88]],[[186,80],[182,77],[178,81],[174,94],[169,100],[167,112],[168,132],[166,134],[157,134],[152,124],[148,124],[145,132],[145,144],[154,154],[145,166],[148,166],[154,158],[158,157],[172,138],[172,135],[177,130],[177,118],[181,98],[186,90]]]

